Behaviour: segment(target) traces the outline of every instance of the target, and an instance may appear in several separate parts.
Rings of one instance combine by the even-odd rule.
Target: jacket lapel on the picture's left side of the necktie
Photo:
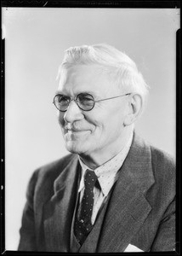
[[[44,206],[45,242],[48,251],[69,252],[71,219],[77,193],[77,157],[54,182],[54,195]]]

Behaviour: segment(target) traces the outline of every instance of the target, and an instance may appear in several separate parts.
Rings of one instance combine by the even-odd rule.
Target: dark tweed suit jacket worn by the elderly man
[[[69,154],[33,173],[20,251],[69,252],[78,165],[77,154]],[[134,134],[107,206],[96,252],[121,253],[128,244],[147,252],[173,251],[174,217],[174,161]]]

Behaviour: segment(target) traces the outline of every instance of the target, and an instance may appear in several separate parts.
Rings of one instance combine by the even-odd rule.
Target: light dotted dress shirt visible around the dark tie
[[[84,174],[87,169],[95,172],[95,174],[98,177],[98,181],[100,183],[100,188],[98,189],[94,187],[94,207],[92,212],[92,218],[91,222],[94,224],[94,221],[97,217],[97,213],[100,210],[100,207],[102,206],[103,202],[105,201],[107,195],[111,191],[111,188],[113,184],[117,181],[117,172],[121,168],[124,160],[126,159],[128,155],[129,148],[131,147],[133,140],[133,133],[129,137],[128,143],[126,143],[125,147],[122,148],[122,150],[111,160],[108,160],[103,164],[102,166],[99,166],[95,170],[92,170],[86,166],[80,157],[78,157],[80,165],[82,166],[82,177],[78,189],[78,193],[80,193],[80,201],[82,201],[82,196],[84,192]]]

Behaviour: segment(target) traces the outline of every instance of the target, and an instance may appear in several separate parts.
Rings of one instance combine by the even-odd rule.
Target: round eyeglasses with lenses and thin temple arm
[[[71,99],[71,97],[69,97],[69,96],[57,94],[56,96],[54,96],[53,103],[54,103],[55,108],[60,110],[60,112],[65,112],[67,110],[67,108],[69,107],[71,101],[76,102],[77,106],[80,109],[82,109],[83,111],[90,111],[94,108],[94,105],[96,102],[107,101],[107,100],[115,99],[118,97],[127,96],[130,94],[131,93],[127,93],[127,94],[123,94],[120,96],[114,96],[111,98],[106,98],[106,99],[102,99],[102,100],[98,100],[98,101],[95,101],[94,96],[92,96],[91,94],[88,94],[88,93],[80,93],[74,99]]]

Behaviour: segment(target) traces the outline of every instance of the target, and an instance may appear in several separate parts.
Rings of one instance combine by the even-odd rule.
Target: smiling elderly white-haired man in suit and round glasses
[[[134,61],[106,44],[72,47],[59,78],[54,105],[71,154],[32,175],[19,250],[173,251],[174,162],[134,132],[147,96]]]

